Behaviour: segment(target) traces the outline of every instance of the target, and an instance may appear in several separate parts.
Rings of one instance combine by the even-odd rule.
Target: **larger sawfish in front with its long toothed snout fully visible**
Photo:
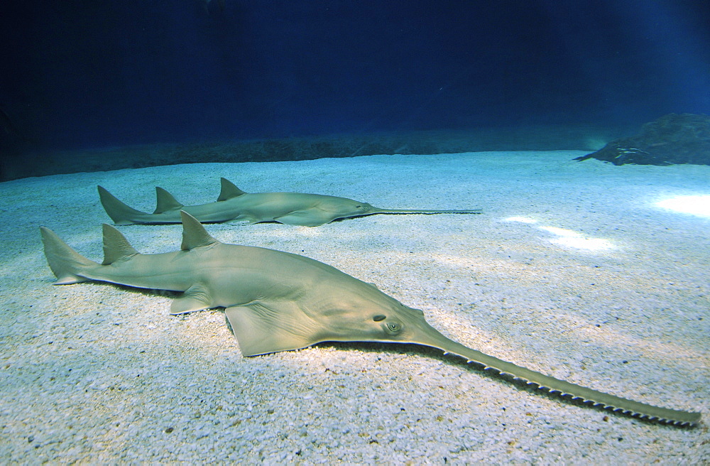
[[[320,342],[412,343],[456,354],[550,393],[630,416],[693,426],[701,414],[676,411],[596,391],[473,350],[429,325],[371,283],[320,261],[255,246],[224,244],[195,217],[180,212],[180,251],[140,254],[115,227],[103,225],[104,261],[87,259],[40,227],[56,285],[106,281],[182,292],[170,313],[224,308],[246,357],[299,350]]]

